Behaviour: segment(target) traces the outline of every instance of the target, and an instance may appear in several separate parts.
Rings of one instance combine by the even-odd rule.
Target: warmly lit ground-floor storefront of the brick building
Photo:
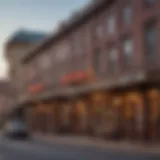
[[[149,138],[157,140],[160,139],[159,99],[158,89],[90,91],[33,104],[29,123],[35,132],[71,132],[124,140],[143,139],[148,125]]]

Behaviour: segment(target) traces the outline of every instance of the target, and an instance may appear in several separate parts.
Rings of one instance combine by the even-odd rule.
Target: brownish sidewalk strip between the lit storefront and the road
[[[40,135],[33,136],[35,140],[47,143],[70,145],[74,147],[94,147],[102,150],[114,150],[116,152],[126,153],[145,153],[145,154],[158,154],[160,155],[160,145],[147,145],[143,143],[127,142],[127,141],[106,141],[103,139],[83,136],[71,135]]]

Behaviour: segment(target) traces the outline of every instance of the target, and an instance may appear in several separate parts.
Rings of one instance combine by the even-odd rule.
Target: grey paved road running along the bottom
[[[93,147],[73,147],[0,138],[0,160],[159,160],[160,156],[124,153]]]

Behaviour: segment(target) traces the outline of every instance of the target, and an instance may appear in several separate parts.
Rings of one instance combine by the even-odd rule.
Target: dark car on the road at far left
[[[4,136],[14,139],[29,138],[29,132],[25,124],[20,120],[12,120],[4,125]]]

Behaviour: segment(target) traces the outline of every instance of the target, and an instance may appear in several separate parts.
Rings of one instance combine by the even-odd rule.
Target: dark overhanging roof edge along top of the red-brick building
[[[36,45],[35,47],[31,48],[22,58],[21,62],[25,63],[29,61],[32,57],[36,56],[39,51],[42,49],[45,49],[50,43],[53,43],[53,41],[56,41],[59,39],[62,35],[69,32],[72,28],[76,27],[78,24],[82,24],[83,21],[86,21],[92,16],[95,11],[96,14],[101,11],[102,8],[105,8],[106,5],[109,5],[113,3],[115,0],[95,0],[95,2],[92,2],[87,8],[81,12],[80,16],[75,19],[71,20],[68,25],[66,25],[63,29],[60,29],[56,33],[52,34],[50,37],[46,38],[44,41],[42,41],[40,44]]]

